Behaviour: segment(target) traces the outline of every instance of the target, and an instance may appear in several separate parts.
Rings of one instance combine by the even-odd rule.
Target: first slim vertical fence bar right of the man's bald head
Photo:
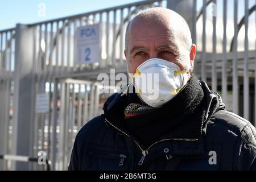
[[[203,0],[203,48],[202,48],[202,55],[201,55],[201,80],[206,81],[206,60],[205,60],[205,53],[206,53],[206,0]]]

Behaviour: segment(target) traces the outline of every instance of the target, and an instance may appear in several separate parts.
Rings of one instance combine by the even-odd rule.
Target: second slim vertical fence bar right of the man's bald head
[[[213,0],[216,4],[216,0]],[[213,59],[212,59],[212,90],[217,92],[217,72],[216,72],[216,16],[213,13]]]

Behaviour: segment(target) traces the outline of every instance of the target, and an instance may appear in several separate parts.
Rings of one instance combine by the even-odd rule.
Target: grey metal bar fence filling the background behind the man
[[[97,75],[110,68],[126,72],[127,23],[156,6],[188,17],[197,77],[221,93],[230,111],[254,123],[256,1],[185,1],[192,2],[189,14],[173,1],[143,1],[0,31],[0,154],[36,157],[46,151],[51,169],[67,169],[77,132],[102,112],[109,96],[99,93]],[[77,65],[76,28],[94,23],[101,24],[101,60]],[[47,113],[36,113],[38,93],[49,96]],[[0,161],[0,169],[14,168],[27,166]]]

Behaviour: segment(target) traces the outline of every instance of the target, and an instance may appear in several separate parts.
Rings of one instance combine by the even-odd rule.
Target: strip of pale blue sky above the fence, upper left
[[[141,0],[0,0],[0,30],[13,28],[16,23],[36,23],[139,1]],[[38,15],[40,3],[46,5],[46,16]]]

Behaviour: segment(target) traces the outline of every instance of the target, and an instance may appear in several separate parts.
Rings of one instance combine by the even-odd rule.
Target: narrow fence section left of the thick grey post
[[[14,49],[15,29],[0,31],[0,154],[9,154],[11,151]],[[1,161],[0,166],[6,166],[6,162]]]

